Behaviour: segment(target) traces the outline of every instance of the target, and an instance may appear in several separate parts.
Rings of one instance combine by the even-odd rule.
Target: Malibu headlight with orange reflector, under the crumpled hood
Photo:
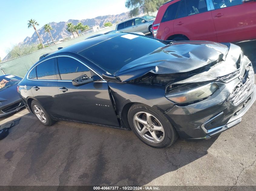
[[[216,90],[218,90],[218,85],[214,82],[209,84],[189,84],[174,89],[166,94],[165,97],[175,103],[189,103],[203,100],[211,96]]]

